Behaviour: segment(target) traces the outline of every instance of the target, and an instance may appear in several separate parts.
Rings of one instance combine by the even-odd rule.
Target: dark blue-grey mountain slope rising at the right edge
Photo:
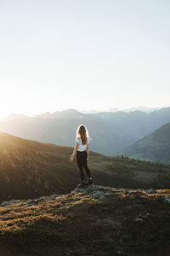
[[[170,124],[122,150],[120,154],[138,159],[170,164]]]

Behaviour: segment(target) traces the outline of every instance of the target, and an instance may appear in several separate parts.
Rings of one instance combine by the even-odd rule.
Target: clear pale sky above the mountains
[[[169,0],[0,0],[0,118],[169,106]]]

